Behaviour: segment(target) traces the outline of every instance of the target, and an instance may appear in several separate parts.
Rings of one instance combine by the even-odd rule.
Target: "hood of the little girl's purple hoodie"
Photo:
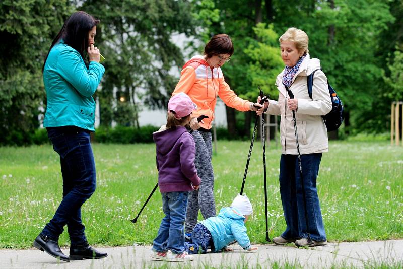
[[[158,131],[153,132],[157,150],[161,154],[167,154],[185,132],[187,132],[187,129],[184,126],[176,126],[176,128],[169,129],[167,129],[165,125],[161,126]]]

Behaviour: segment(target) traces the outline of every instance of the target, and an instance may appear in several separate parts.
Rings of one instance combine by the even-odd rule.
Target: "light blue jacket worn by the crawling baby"
[[[244,250],[252,247],[246,233],[244,219],[245,217],[237,208],[229,207],[222,208],[218,216],[201,222],[211,233],[215,252],[220,251],[234,240],[238,241]]]

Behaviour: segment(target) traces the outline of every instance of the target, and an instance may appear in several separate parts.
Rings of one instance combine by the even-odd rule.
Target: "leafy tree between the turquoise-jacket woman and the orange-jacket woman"
[[[100,97],[101,124],[113,118],[113,90],[125,93],[133,116],[143,105],[165,107],[177,83],[170,71],[183,64],[174,34],[194,34],[188,1],[88,0],[81,7],[99,18],[96,43],[105,56]],[[111,109],[112,108],[112,109]],[[127,107],[125,107],[127,109]],[[137,119],[132,124],[138,125]]]

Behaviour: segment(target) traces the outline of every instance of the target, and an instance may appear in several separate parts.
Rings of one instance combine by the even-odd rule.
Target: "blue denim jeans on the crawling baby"
[[[189,254],[205,254],[207,247],[212,247],[214,252],[214,243],[209,229],[201,223],[194,226],[190,242],[185,242],[185,251]]]

